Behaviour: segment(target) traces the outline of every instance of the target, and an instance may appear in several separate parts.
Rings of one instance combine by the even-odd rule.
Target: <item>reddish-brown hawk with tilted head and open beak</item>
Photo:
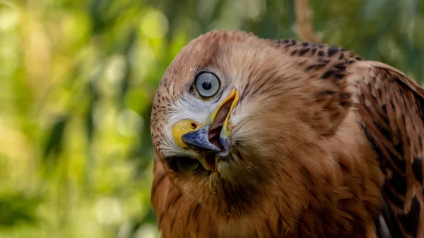
[[[424,237],[424,89],[350,50],[213,30],[153,102],[162,237]]]

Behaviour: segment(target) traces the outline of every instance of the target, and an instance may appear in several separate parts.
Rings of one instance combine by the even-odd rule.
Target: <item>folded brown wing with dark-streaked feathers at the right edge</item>
[[[358,61],[355,104],[385,182],[382,216],[391,237],[424,237],[424,89],[401,71]]]

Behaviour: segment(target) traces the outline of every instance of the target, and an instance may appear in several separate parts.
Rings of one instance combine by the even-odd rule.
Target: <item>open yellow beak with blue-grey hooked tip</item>
[[[172,136],[181,148],[191,148],[204,153],[207,169],[215,170],[218,157],[226,157],[230,150],[232,128],[229,125],[232,109],[239,100],[239,93],[233,89],[204,124],[184,119],[172,126]],[[208,165],[212,165],[208,167]]]

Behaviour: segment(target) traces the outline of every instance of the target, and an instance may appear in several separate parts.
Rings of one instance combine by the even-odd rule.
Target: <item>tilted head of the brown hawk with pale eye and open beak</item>
[[[277,48],[244,32],[215,31],[184,47],[165,72],[153,142],[175,185],[199,203],[229,212],[283,184],[299,194],[302,179],[288,171],[301,168],[299,154],[322,153],[301,148],[318,136],[310,131],[318,116],[311,90],[322,85],[297,81],[298,62]]]

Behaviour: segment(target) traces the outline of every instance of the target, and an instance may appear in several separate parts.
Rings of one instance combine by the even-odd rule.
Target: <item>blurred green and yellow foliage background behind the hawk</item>
[[[424,4],[310,2],[314,31],[423,82]],[[151,101],[216,28],[297,38],[293,0],[0,0],[0,237],[158,237]]]

